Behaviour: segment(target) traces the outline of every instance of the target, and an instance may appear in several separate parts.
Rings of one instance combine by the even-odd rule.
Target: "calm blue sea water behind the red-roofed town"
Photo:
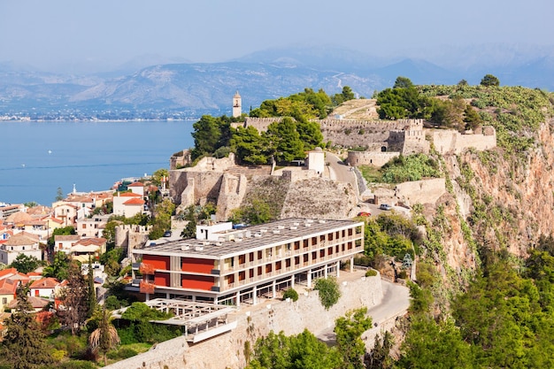
[[[194,122],[0,122],[0,203],[50,206],[58,188],[104,190],[169,168],[174,152],[194,145]]]

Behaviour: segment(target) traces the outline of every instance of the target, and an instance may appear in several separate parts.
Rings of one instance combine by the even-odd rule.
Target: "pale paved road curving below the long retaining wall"
[[[377,304],[367,310],[367,315],[372,317],[373,327],[380,326],[382,322],[395,317],[397,314],[406,311],[410,306],[410,290],[402,285],[382,281],[383,299],[381,304]],[[329,345],[336,343],[334,327],[328,328],[318,334],[322,342]]]

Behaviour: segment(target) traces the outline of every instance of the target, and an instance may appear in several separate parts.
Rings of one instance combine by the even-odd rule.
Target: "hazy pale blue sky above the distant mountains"
[[[144,54],[217,62],[290,45],[372,55],[445,45],[552,45],[552,0],[0,0],[0,61],[119,65]]]

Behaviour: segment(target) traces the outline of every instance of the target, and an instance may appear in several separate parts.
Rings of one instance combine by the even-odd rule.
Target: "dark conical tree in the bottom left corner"
[[[35,369],[52,362],[44,334],[33,316],[29,303],[28,286],[17,289],[18,305],[5,324],[4,359],[13,369]]]

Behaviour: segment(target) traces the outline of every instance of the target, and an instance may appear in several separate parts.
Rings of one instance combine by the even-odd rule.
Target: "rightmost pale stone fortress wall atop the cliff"
[[[460,154],[462,151],[474,148],[489,150],[496,147],[496,131],[494,127],[482,127],[482,134],[462,135],[453,130],[434,130],[432,133],[435,149],[440,154]]]

